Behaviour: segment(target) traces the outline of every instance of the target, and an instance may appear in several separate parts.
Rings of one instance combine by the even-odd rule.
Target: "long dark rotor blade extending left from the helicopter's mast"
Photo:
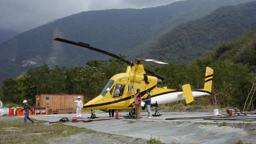
[[[104,51],[104,50],[101,50],[101,49],[97,49],[97,48],[91,47],[89,44],[86,44],[86,43],[82,43],[82,42],[76,43],[76,42],[73,42],[71,40],[67,40],[67,39],[63,39],[63,38],[59,38],[59,37],[54,38],[54,40],[59,41],[59,42],[63,42],[63,43],[67,43],[67,44],[70,44],[70,45],[75,45],[75,46],[78,46],[78,47],[86,48],[86,49],[93,50],[93,51],[96,51],[96,52],[100,52],[100,53],[103,53],[105,55],[109,55],[109,56],[112,56],[114,58],[117,58],[117,59],[125,62],[126,64],[128,64],[130,66],[134,65],[132,61],[124,59],[124,58],[122,58],[122,57],[120,57],[118,55],[115,55],[113,53],[110,53],[110,52],[107,52],[107,51]]]

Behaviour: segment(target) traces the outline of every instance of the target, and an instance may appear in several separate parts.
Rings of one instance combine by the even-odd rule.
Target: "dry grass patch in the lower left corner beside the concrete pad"
[[[46,143],[52,137],[70,136],[73,134],[94,131],[84,128],[67,126],[61,123],[45,125],[46,121],[35,120],[34,124],[28,122],[24,124],[23,119],[0,122],[0,142],[1,143]]]

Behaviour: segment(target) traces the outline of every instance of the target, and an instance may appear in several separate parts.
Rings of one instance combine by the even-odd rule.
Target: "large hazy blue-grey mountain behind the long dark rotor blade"
[[[29,68],[47,63],[72,67],[87,60],[106,58],[98,53],[53,42],[54,37],[89,43],[114,53],[135,55],[136,47],[162,33],[203,17],[224,5],[251,0],[187,0],[145,9],[113,9],[81,12],[17,35],[0,45],[0,81],[25,74]]]

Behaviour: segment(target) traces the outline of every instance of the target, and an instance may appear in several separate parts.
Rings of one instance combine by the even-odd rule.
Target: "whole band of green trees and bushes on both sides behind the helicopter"
[[[216,51],[206,54],[190,65],[169,63],[167,66],[146,66],[166,77],[161,86],[180,89],[191,84],[203,88],[205,67],[214,69],[214,86],[210,97],[197,99],[196,105],[243,108],[254,110],[256,32],[252,31]],[[24,98],[34,99],[35,94],[84,94],[87,100],[100,93],[111,76],[125,72],[125,64],[110,58],[109,61],[91,60],[86,67],[71,69],[43,65],[28,70],[16,79],[7,78],[2,86],[4,102],[20,103]],[[249,94],[249,95],[248,95]],[[247,99],[247,100],[246,100]]]

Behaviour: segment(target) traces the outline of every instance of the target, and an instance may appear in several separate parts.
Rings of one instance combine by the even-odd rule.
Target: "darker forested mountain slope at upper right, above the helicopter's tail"
[[[144,50],[147,58],[190,63],[221,44],[256,29],[256,1],[220,7],[199,20],[182,24]]]

